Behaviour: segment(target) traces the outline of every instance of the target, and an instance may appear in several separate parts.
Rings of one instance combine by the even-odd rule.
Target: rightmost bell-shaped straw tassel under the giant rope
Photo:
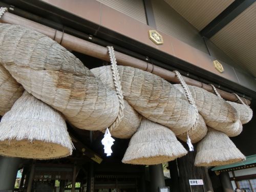
[[[214,129],[208,129],[207,135],[197,145],[196,166],[217,166],[245,160],[228,136]]]

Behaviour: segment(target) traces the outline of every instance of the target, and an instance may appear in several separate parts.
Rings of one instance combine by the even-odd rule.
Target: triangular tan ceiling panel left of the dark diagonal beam
[[[190,24],[201,31],[234,0],[164,0]]]

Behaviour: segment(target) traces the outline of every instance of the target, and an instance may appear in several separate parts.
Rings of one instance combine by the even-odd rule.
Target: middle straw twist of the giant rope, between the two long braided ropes
[[[118,66],[123,96],[141,115],[169,127],[176,135],[187,132],[196,122],[196,110],[186,96],[161,77],[132,67]],[[110,66],[94,74],[113,87]]]

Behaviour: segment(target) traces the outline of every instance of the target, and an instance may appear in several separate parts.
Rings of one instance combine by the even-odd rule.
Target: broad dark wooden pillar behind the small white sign
[[[186,144],[183,144],[186,147]],[[194,148],[196,148],[194,144]],[[204,192],[214,191],[212,189],[208,169],[206,167],[196,167],[194,165],[196,152],[188,152],[187,155],[178,158],[178,170],[179,170],[179,188],[180,191],[191,191],[191,192]],[[190,185],[189,179],[203,179],[204,185]]]

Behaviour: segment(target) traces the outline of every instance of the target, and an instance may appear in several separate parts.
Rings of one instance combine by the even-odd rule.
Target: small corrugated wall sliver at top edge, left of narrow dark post
[[[142,0],[97,0],[121,13],[146,24],[146,14]]]

